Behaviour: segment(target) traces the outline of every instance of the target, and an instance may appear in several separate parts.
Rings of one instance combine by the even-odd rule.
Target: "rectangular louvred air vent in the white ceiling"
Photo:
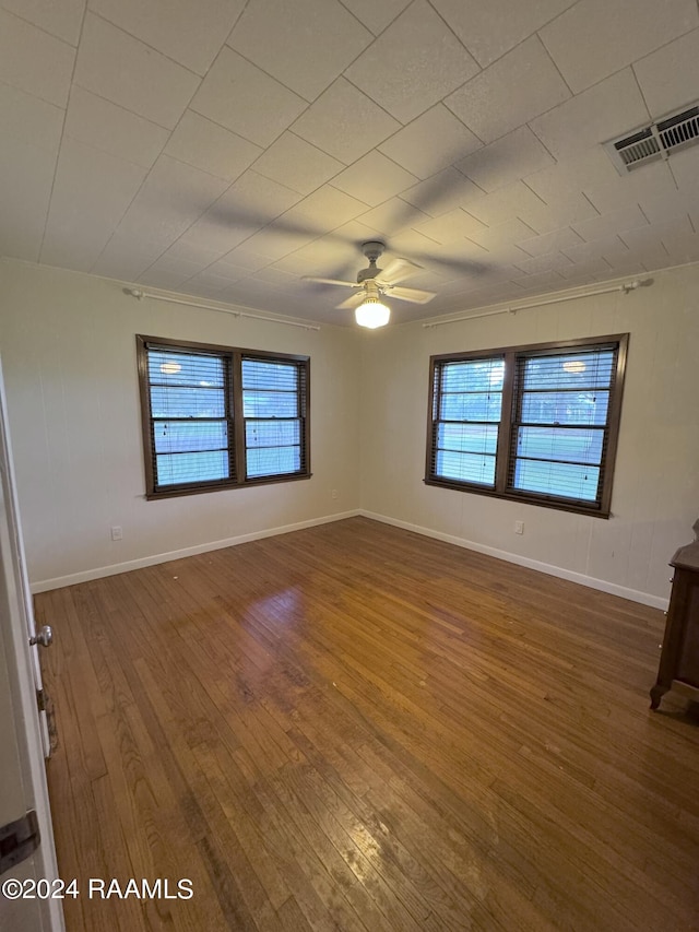
[[[672,152],[699,142],[699,106],[650,123],[623,139],[605,142],[604,148],[617,172],[625,175],[640,165],[667,158]]]

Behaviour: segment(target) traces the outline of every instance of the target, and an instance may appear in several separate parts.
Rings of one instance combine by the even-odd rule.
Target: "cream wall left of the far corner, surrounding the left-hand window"
[[[358,508],[355,331],[137,302],[115,282],[8,260],[0,262],[0,353],[35,589]],[[135,333],[309,354],[312,477],[146,502]],[[122,541],[111,541],[112,524],[123,529]]]

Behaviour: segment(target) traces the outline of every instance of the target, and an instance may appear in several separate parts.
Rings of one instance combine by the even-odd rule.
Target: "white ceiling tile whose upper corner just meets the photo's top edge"
[[[407,123],[477,70],[435,10],[425,0],[415,0],[345,75]]]

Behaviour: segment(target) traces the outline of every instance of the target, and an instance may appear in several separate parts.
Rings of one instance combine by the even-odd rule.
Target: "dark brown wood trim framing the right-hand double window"
[[[621,398],[624,392],[624,376],[628,352],[628,333],[609,337],[581,338],[556,343],[536,343],[525,346],[508,346],[503,349],[481,350],[473,353],[445,353],[430,357],[429,363],[429,406],[427,413],[427,453],[425,464],[425,483],[427,485],[470,492],[475,495],[489,495],[495,498],[506,498],[510,502],[523,502],[529,505],[540,505],[545,508],[557,508],[574,511],[581,515],[592,515],[597,518],[608,518],[612,506],[612,484],[614,464],[619,434],[621,415]],[[512,487],[514,460],[517,457],[518,426],[522,410],[522,366],[529,357],[561,355],[566,351],[580,352],[613,349],[615,364],[609,389],[609,405],[604,427],[602,465],[600,475],[600,492],[595,502],[582,502],[577,498],[544,493],[521,492]],[[442,403],[440,389],[440,373],[445,364],[466,363],[471,361],[501,361],[505,367],[501,393],[501,413],[498,424],[496,449],[495,477],[491,485],[474,482],[446,479],[437,474],[437,430],[440,421]],[[464,422],[467,423],[467,422]]]

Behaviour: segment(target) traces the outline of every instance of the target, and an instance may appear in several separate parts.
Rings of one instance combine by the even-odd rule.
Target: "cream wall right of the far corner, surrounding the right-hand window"
[[[654,284],[425,329],[367,334],[362,505],[404,527],[663,605],[667,561],[699,516],[699,266]],[[430,354],[629,331],[609,520],[423,483]],[[524,521],[524,534],[513,533]]]

